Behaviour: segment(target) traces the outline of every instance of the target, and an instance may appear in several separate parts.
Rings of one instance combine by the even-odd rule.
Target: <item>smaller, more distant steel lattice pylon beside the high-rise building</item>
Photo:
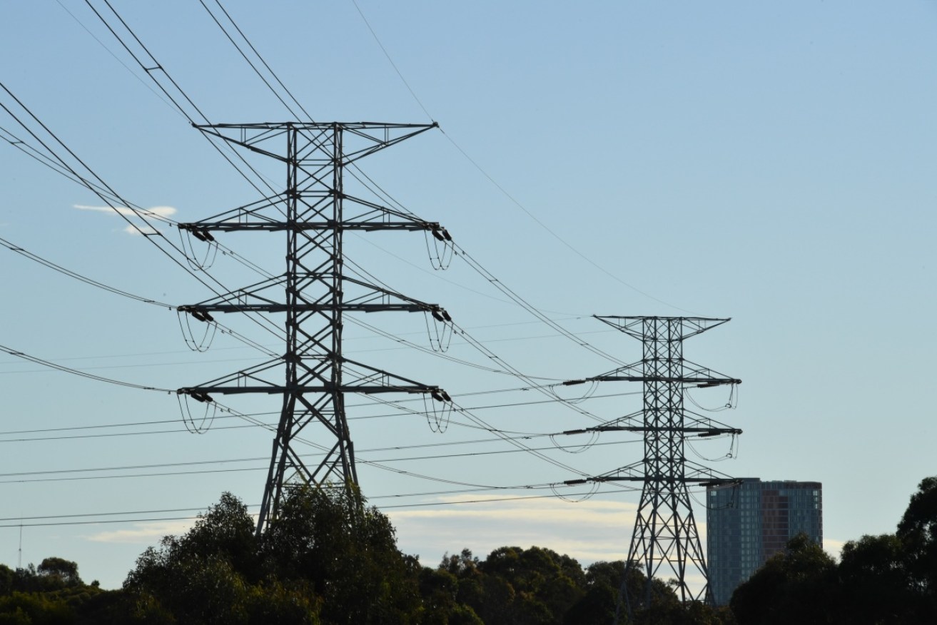
[[[683,358],[683,341],[714,328],[728,319],[699,317],[597,317],[626,335],[641,341],[641,361],[588,380],[637,381],[644,389],[641,411],[607,424],[578,431],[629,431],[644,434],[644,458],[582,482],[639,482],[641,501],[628,549],[625,580],[621,586],[616,622],[621,604],[629,615],[639,606],[649,606],[655,593],[653,579],[670,575],[681,601],[710,601],[706,558],[693,517],[689,486],[732,485],[736,480],[690,460],[684,453],[685,441],[719,435],[738,435],[741,430],[720,424],[684,408],[688,387],[739,384]],[[578,380],[576,380],[578,381]],[[573,433],[573,432],[571,432]],[[633,596],[627,581],[632,570],[645,574],[647,584],[641,596]],[[702,578],[696,592],[691,578]]]

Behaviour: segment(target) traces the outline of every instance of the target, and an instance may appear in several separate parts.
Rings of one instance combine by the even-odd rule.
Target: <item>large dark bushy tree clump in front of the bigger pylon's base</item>
[[[419,562],[350,486],[290,489],[260,539],[226,493],[185,536],[143,552],[124,588],[139,622],[408,623],[422,609]]]

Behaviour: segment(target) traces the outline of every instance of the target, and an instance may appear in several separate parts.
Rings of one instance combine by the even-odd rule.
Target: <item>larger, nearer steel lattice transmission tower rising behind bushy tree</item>
[[[236,148],[286,165],[286,188],[201,221],[179,224],[201,241],[212,231],[286,232],[286,272],[195,305],[179,306],[195,319],[212,313],[285,313],[282,357],[199,386],[179,389],[201,402],[211,394],[277,394],[282,409],[270,469],[260,504],[257,532],[275,518],[285,484],[357,484],[354,446],[345,415],[346,393],[431,394],[439,387],[401,378],[352,361],[342,354],[345,312],[423,311],[448,319],[439,305],[425,304],[348,275],[345,231],[428,231],[451,240],[439,223],[424,221],[350,196],[343,172],[365,156],[405,141],[432,125],[379,123],[282,123],[197,126]],[[310,438],[324,452],[308,463],[298,444]]]

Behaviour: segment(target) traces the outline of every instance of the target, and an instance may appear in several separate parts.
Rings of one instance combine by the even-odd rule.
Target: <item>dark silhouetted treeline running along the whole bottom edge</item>
[[[629,594],[647,579],[628,572]],[[147,549],[118,590],[85,584],[74,562],[0,565],[0,625],[609,625],[621,561],[585,569],[542,547],[468,549],[436,567],[397,550],[394,528],[351,488],[297,488],[260,538],[230,494],[182,537]],[[797,537],[736,590],[731,606],[655,600],[634,623],[937,622],[937,478],[920,484],[894,535],[847,543],[840,562]],[[620,622],[629,622],[620,615]]]

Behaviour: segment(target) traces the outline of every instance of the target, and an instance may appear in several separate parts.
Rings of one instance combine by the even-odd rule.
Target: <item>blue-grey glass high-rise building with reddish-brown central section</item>
[[[706,488],[709,590],[717,605],[800,532],[823,544],[823,484],[744,478]]]

